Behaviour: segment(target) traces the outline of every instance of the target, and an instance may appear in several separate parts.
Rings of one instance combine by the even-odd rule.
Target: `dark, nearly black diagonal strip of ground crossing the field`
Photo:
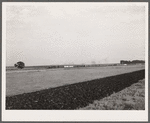
[[[6,97],[6,109],[77,109],[137,83],[145,70]]]

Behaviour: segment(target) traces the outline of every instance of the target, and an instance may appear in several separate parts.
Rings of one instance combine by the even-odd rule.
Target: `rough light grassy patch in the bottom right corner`
[[[79,110],[145,110],[145,80]]]

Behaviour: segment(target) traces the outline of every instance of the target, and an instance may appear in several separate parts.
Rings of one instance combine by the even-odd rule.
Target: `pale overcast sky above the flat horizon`
[[[6,65],[17,61],[30,66],[144,60],[145,7],[112,5],[7,5]]]

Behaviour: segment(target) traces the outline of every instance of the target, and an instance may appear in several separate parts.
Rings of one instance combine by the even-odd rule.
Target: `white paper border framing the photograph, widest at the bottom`
[[[51,4],[50,2],[49,4]],[[58,2],[57,2],[58,3]],[[56,4],[57,4],[56,3]],[[65,2],[63,2],[65,3]],[[77,3],[77,2],[76,2]],[[85,3],[85,2],[84,2]],[[88,2],[89,3],[89,2]],[[6,110],[6,6],[46,5],[42,2],[2,3],[2,121],[148,121],[148,2],[114,2],[116,5],[145,6],[145,110]],[[72,3],[73,4],[73,3]],[[90,4],[90,3],[89,3]],[[103,3],[102,5],[112,5]]]

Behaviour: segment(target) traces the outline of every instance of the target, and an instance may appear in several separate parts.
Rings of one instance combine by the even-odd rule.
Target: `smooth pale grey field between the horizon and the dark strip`
[[[69,85],[144,69],[144,65],[6,72],[6,96]]]

